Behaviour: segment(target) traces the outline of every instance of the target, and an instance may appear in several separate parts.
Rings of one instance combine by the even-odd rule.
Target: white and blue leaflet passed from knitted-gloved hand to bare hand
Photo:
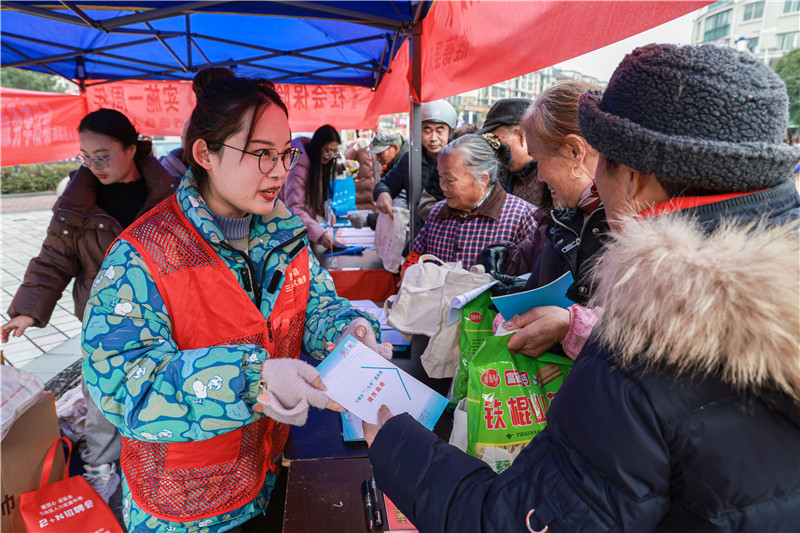
[[[408,413],[433,429],[447,399],[361,344],[344,337],[318,366],[328,396],[362,420],[378,423],[378,410]]]

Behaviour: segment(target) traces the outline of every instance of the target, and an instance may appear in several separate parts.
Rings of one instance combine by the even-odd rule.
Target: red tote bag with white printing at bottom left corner
[[[47,452],[39,490],[20,496],[19,509],[28,533],[124,533],[111,508],[82,476],[66,477],[47,484],[55,454],[61,451],[59,443],[62,440],[72,454],[69,439],[56,439]],[[69,459],[65,475],[69,476]]]

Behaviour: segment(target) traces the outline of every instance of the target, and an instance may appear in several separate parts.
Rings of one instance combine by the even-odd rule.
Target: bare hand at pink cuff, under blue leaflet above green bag
[[[511,353],[539,357],[552,345],[564,340],[569,331],[569,311],[555,306],[534,307],[503,324],[518,329],[508,340]]]

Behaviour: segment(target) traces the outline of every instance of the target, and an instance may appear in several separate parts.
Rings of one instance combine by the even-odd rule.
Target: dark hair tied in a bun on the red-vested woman
[[[211,153],[219,152],[228,137],[241,131],[248,111],[255,109],[245,141],[247,149],[258,119],[272,104],[280,107],[289,116],[286,105],[275,91],[275,85],[264,78],[222,77],[203,89],[192,111],[186,138],[183,140],[184,158],[198,185],[208,180],[208,172],[194,159],[192,146],[195,141],[203,139]]]

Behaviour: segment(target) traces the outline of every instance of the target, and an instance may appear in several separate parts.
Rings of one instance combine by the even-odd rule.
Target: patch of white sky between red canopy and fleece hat
[[[608,81],[614,69],[625,57],[625,54],[631,52],[637,46],[650,43],[689,44],[692,41],[692,20],[696,13],[696,11],[689,13],[638,35],[559,63],[555,67],[576,70],[582,74],[594,76],[601,81]]]

